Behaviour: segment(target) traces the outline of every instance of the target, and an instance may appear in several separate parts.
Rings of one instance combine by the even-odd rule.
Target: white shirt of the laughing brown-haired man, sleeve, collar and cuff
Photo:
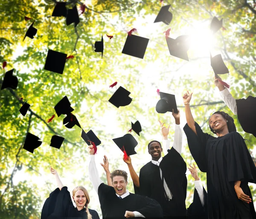
[[[96,190],[96,193],[98,193],[99,185],[102,184],[102,180],[99,178],[99,172],[96,167],[95,163],[95,155],[90,155],[90,163],[89,163],[89,179],[90,182],[93,184],[93,188]],[[116,194],[117,195],[117,194]],[[126,196],[130,195],[129,191],[126,190],[126,193],[123,194],[121,197],[122,199]],[[119,197],[119,195],[117,195]],[[133,211],[134,217],[144,217],[140,212]]]

